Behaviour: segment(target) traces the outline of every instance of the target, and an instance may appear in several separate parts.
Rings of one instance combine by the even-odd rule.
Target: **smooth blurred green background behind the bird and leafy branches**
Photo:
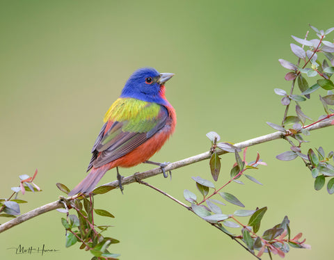
[[[138,67],[175,73],[166,96],[177,111],[177,128],[153,161],[207,151],[208,131],[234,143],[272,132],[265,122],[279,124],[284,112],[273,88],[290,86],[278,58],[296,62],[290,35],[303,38],[309,23],[334,26],[333,3],[0,1],[0,197],[10,195],[19,174],[33,174],[35,168],[35,183],[43,191],[19,195],[29,201],[22,212],[57,200],[62,193],[56,182],[72,188],[81,181],[104,113]],[[324,113],[318,100],[305,105],[313,118]],[[316,131],[305,148],[322,145],[329,152],[330,136],[333,129]],[[269,207],[261,232],[289,216],[292,234],[302,231],[312,250],[294,249],[286,259],[331,259],[334,198],[313,189],[301,161],[275,159],[287,149],[282,140],[250,147],[249,161],[258,151],[268,163],[252,174],[264,186],[244,179],[245,186],[231,184],[226,191],[246,209]],[[221,184],[229,179],[233,157],[222,158]],[[150,168],[139,165],[121,173]],[[198,175],[210,178],[208,161],[174,170],[171,181],[161,176],[148,181],[184,201],[185,188],[196,192],[191,176]],[[114,179],[111,170],[100,184]],[[121,241],[109,247],[121,259],[253,259],[228,236],[145,186],[125,186],[124,195],[114,190],[95,203],[116,216],[96,221],[114,226],[106,235]],[[225,206],[223,213],[236,209]],[[78,245],[65,248],[62,216],[46,213],[1,234],[1,259],[41,258],[7,249],[19,244],[60,250],[43,259],[90,259]]]

